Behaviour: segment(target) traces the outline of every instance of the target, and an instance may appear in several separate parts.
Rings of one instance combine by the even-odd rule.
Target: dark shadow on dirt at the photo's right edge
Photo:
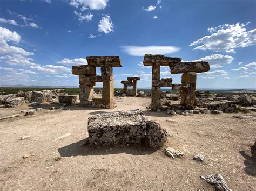
[[[244,151],[239,151],[239,153],[245,158],[245,172],[251,176],[256,176],[256,147],[251,146],[251,157]]]

